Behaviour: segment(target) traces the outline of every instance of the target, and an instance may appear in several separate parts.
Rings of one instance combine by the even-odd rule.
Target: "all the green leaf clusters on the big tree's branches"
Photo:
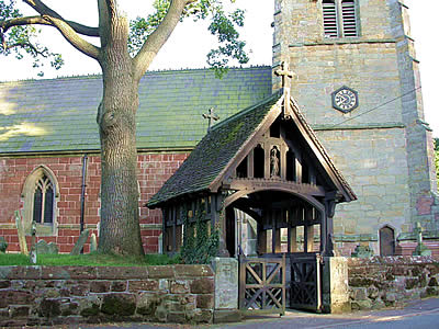
[[[245,12],[235,9],[227,12],[224,2],[234,4],[236,0],[196,0],[188,3],[180,18],[211,20],[209,31],[217,36],[218,46],[207,54],[207,65],[215,69],[218,77],[227,71],[230,60],[243,65],[249,58],[245,50],[246,43],[239,39],[238,29],[244,26]],[[165,19],[171,0],[154,0],[153,13],[146,16],[137,16],[130,23],[128,52],[134,57],[142,48],[148,36],[159,26]],[[48,61],[52,67],[59,69],[64,59],[60,54],[52,53],[47,47],[37,42],[41,30],[35,29],[32,20],[26,24],[15,25],[16,19],[23,18],[16,8],[15,0],[0,0],[0,54],[15,55],[22,59],[29,56],[33,60],[34,68],[43,68]],[[35,24],[42,24],[41,22]],[[43,76],[43,70],[40,71]]]

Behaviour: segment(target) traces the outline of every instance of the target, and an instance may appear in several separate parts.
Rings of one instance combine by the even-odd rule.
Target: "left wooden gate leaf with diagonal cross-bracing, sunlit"
[[[239,256],[239,309],[244,314],[285,314],[284,256]]]

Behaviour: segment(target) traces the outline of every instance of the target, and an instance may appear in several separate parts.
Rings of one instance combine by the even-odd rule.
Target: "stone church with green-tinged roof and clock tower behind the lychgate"
[[[209,69],[147,72],[137,113],[145,251],[161,249],[164,228],[162,213],[146,204],[206,135],[203,114],[213,109],[219,120],[212,124],[221,125],[267,102],[284,87],[274,72],[286,63],[304,126],[357,195],[336,207],[336,249],[345,256],[358,246],[374,254],[412,254],[419,223],[425,245],[439,254],[431,129],[424,121],[408,2],[275,0],[271,66],[232,68],[223,79]],[[35,220],[38,239],[60,252],[71,250],[83,228],[98,235],[101,94],[100,76],[0,83],[0,236],[9,251],[20,250],[18,209],[25,230]],[[307,182],[318,185],[306,171]],[[236,239],[250,239],[251,229],[236,229]]]

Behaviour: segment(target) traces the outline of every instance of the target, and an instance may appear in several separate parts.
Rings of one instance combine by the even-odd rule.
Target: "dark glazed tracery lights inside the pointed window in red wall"
[[[43,177],[36,181],[34,191],[33,220],[37,224],[53,224],[54,196],[54,185],[52,181],[43,174]]]

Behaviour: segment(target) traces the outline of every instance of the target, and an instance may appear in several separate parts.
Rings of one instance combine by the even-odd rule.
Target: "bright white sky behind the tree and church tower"
[[[21,2],[21,1],[18,1]],[[97,25],[97,1],[46,0],[65,19]],[[68,4],[66,4],[66,2]],[[151,0],[126,0],[128,15],[135,18],[148,12]],[[246,25],[241,30],[243,39],[250,50],[248,65],[271,65],[273,0],[238,0],[237,5],[246,10]],[[75,3],[72,5],[71,3]],[[409,7],[412,37],[415,39],[416,59],[420,61],[420,79],[425,109],[425,121],[434,129],[434,136],[439,137],[439,109],[435,104],[436,77],[439,76],[439,61],[435,41],[439,31],[438,0],[405,0]],[[26,5],[22,7],[27,10]],[[88,10],[90,9],[90,10]],[[32,10],[24,12],[34,14]],[[40,27],[38,27],[40,29]],[[52,52],[61,53],[66,65],[58,71],[47,68],[44,78],[58,76],[78,76],[100,73],[98,64],[77,52],[52,27],[42,27],[45,44]],[[150,70],[202,68],[205,67],[205,56],[212,48],[214,37],[207,31],[206,22],[193,23],[188,20],[180,23],[170,39],[159,52],[149,67]],[[0,58],[0,81],[37,78],[38,70],[32,69],[31,61],[16,60],[13,57]]]

